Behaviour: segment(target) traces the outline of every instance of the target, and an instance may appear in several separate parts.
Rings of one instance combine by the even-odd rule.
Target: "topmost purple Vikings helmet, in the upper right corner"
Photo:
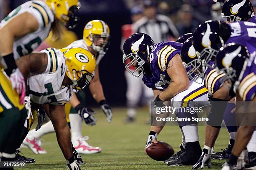
[[[247,21],[253,15],[253,5],[250,0],[227,0],[222,7],[221,13],[221,16],[227,18],[230,23]]]

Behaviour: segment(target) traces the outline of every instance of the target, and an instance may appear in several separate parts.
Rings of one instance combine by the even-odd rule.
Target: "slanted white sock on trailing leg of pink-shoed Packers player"
[[[53,133],[54,131],[54,127],[53,124],[51,122],[51,120],[47,123],[45,123],[44,125],[41,126],[40,129],[38,129],[36,131],[36,129],[32,129],[31,131],[29,131],[29,135],[32,135],[35,138],[41,138],[41,136],[45,135],[46,133]]]

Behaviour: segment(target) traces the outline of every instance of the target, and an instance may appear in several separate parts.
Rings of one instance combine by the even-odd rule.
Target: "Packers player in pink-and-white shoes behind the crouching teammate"
[[[102,20],[92,20],[88,22],[84,27],[83,40],[74,41],[68,46],[68,48],[81,47],[89,50],[93,55],[96,56],[95,77],[89,85],[89,89],[94,99],[100,104],[102,111],[107,117],[107,121],[111,122],[112,110],[105,100],[99,76],[99,63],[102,57],[105,55],[105,51],[107,50],[109,37],[110,29],[108,24]],[[67,113],[67,121],[70,122],[72,143],[74,148],[76,148],[78,153],[99,153],[101,151],[100,147],[90,146],[85,141],[88,139],[88,137],[82,137],[82,120],[86,120],[84,119],[83,115],[84,112],[91,110],[90,108],[84,106],[84,92],[75,93],[69,103],[65,105],[65,110]],[[91,112],[93,112],[93,110],[91,110]],[[91,125],[95,125],[95,123]],[[44,154],[46,153],[46,150],[41,148],[40,138],[42,135],[51,132],[54,132],[54,127],[51,121],[49,121],[44,124],[40,130],[31,130],[28,133],[26,139],[23,141],[23,144],[27,145],[36,154]]]

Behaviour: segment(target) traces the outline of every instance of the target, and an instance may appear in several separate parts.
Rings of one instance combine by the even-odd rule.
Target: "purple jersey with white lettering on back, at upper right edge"
[[[231,35],[225,44],[235,42],[247,47],[250,53],[256,51],[256,24],[246,21],[230,23]]]

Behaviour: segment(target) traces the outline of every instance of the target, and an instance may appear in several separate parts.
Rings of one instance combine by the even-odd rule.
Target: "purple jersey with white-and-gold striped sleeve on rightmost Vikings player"
[[[255,97],[256,92],[256,52],[251,54],[246,69],[239,76],[239,84],[236,85],[239,95],[244,101],[250,101]]]

